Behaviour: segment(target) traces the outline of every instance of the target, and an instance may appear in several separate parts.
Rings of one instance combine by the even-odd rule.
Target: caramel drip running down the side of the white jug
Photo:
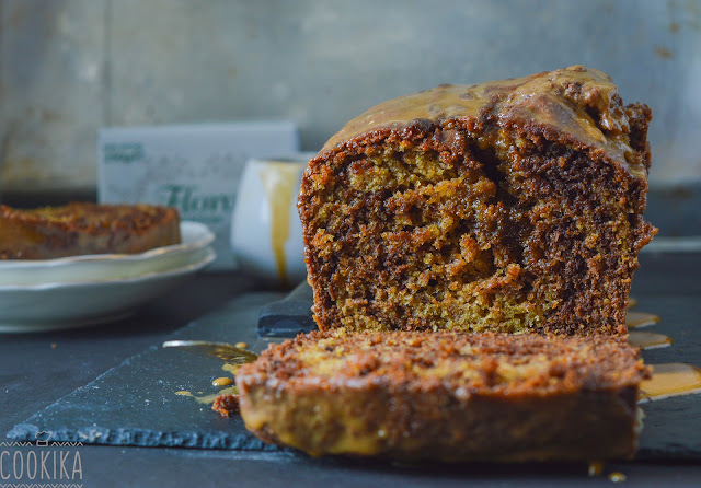
[[[261,171],[263,188],[271,205],[271,245],[277,274],[285,286],[289,284],[285,243],[289,239],[290,202],[298,175],[304,165],[291,161],[267,161]]]

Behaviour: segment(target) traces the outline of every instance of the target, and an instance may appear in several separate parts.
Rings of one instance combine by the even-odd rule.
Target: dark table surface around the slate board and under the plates
[[[633,295],[701,298],[701,254],[643,255]],[[256,289],[238,274],[206,274],[142,307],[133,317],[94,328],[0,336],[0,437],[64,395],[128,357],[161,344],[170,333]],[[701,302],[699,302],[701,303]],[[699,305],[701,311],[701,305]],[[652,312],[652,311],[651,311]],[[701,314],[699,314],[701,326]],[[699,358],[698,364],[701,363]],[[2,441],[2,439],[0,439]],[[27,448],[0,446],[9,456]],[[51,448],[49,448],[51,449]],[[54,448],[55,450],[59,448]],[[563,486],[611,483],[621,472],[630,486],[701,486],[694,463],[618,463],[587,477],[585,465],[469,465],[410,467],[353,460],[310,460],[289,453],[223,450],[78,448],[83,486]],[[0,466],[1,467],[1,466]],[[4,480],[8,483],[9,480]]]

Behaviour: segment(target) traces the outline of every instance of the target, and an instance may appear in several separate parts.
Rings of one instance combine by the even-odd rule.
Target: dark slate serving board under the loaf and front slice
[[[277,314],[285,318],[279,306],[271,307],[283,298],[269,292],[241,295],[168,339],[244,341],[258,352],[271,341],[281,340],[258,338],[256,328],[260,317]],[[637,299],[639,310],[663,316],[653,329],[676,339],[670,348],[644,351],[645,361],[698,363],[701,327],[696,297]],[[299,303],[290,314],[299,315]],[[269,332],[269,324],[266,327]],[[209,405],[175,394],[183,390],[216,393],[212,379],[226,375],[216,359],[153,345],[15,426],[8,437],[32,441],[45,430],[51,432],[53,441],[279,451],[251,435],[239,417],[222,418]],[[701,460],[701,395],[652,402],[643,408],[646,418],[639,460]]]

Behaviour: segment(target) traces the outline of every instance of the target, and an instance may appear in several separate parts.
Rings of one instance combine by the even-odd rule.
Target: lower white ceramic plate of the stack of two
[[[30,333],[113,322],[172,290],[216,257],[211,247],[171,269],[135,278],[0,287],[0,332]]]

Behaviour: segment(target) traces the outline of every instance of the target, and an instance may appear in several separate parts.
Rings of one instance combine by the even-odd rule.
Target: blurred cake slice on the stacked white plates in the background
[[[19,210],[0,206],[0,259],[134,254],[180,241],[180,216],[171,207],[71,202]]]

